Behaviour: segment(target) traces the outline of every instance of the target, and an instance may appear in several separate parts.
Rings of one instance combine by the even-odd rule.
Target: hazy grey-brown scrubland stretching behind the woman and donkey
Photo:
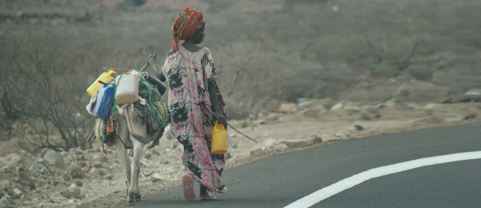
[[[85,90],[102,67],[153,52],[162,66],[187,6],[204,13],[229,119],[270,100],[384,102],[393,80],[481,88],[480,0],[0,0],[0,140],[86,147]]]

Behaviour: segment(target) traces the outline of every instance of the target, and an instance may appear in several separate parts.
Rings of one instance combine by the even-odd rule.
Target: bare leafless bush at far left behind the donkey
[[[40,147],[58,148],[50,143],[48,124],[51,122],[62,136],[62,147],[69,149],[85,140],[86,120],[82,116],[81,81],[63,47],[42,36],[20,36],[8,40],[10,67],[4,83],[4,111],[17,112],[43,138]],[[8,71],[7,71],[8,70]],[[8,72],[8,73],[7,73]],[[44,133],[29,122],[40,118]]]

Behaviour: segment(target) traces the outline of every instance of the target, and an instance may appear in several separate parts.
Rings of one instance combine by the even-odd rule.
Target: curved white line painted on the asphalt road
[[[415,169],[423,166],[436,165],[441,163],[455,162],[460,160],[480,159],[481,151],[456,153],[451,155],[426,157],[407,162],[397,163],[393,165],[383,166],[375,169],[370,169],[362,173],[353,175],[342,181],[334,183],[328,187],[320,189],[310,195],[291,203],[284,208],[308,208],[328,198],[331,195],[335,195],[342,192],[345,189],[351,188],[361,182],[367,181],[372,178],[388,175],[391,173],[397,173],[408,169]]]

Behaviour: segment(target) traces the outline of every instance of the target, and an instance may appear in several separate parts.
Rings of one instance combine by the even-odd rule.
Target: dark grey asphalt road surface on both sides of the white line
[[[283,208],[369,169],[480,150],[480,123],[381,134],[227,169],[222,181],[228,192],[215,194],[216,200],[189,202],[178,186],[143,198],[136,207]],[[424,166],[367,180],[312,208],[481,208],[480,176],[481,159]]]

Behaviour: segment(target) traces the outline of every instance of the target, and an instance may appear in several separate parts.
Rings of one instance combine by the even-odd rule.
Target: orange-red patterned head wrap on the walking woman
[[[203,18],[201,11],[195,12],[189,7],[179,13],[176,22],[172,25],[172,48],[178,51],[177,45],[180,40],[188,39],[197,33],[205,24]]]

